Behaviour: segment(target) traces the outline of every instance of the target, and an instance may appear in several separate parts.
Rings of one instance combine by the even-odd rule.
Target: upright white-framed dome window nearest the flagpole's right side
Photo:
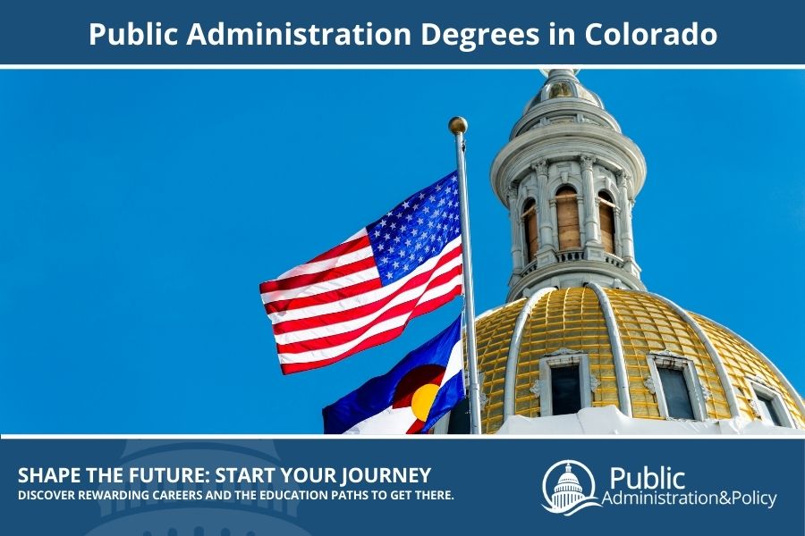
[[[534,392],[534,391],[532,391]],[[539,360],[539,415],[569,415],[592,406],[589,357],[561,348]]]

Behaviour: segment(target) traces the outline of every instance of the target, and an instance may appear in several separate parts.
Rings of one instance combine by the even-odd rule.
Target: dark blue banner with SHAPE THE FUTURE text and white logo
[[[8,534],[802,534],[802,440],[2,440]]]

